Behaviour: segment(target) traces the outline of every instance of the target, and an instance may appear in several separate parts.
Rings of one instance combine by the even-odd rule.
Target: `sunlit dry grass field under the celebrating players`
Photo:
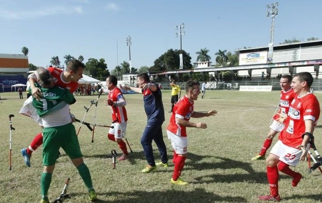
[[[163,125],[164,138],[169,159],[172,158],[171,143],[167,139],[166,127],[170,113],[170,91],[163,91],[163,102],[166,121]],[[201,95],[195,101],[195,111],[217,110],[215,117],[191,119],[207,124],[207,129],[189,128],[188,158],[182,172],[182,178],[188,186],[171,185],[173,165],[169,168],[158,168],[155,172],[140,172],[146,165],[140,137],[146,125],[142,94],[127,94],[127,139],[133,153],[130,159],[117,162],[112,169],[112,159],[107,155],[115,149],[120,153],[117,144],[107,139],[107,128],[96,127],[94,143],[92,133],[83,126],[78,135],[85,163],[88,165],[94,187],[98,193],[97,202],[258,202],[257,196],[269,193],[266,178],[265,161],[251,161],[259,152],[269,131],[268,124],[279,101],[279,91],[272,92],[239,92],[207,91],[204,99]],[[319,100],[321,93],[316,93]],[[41,164],[40,147],[31,158],[28,168],[20,154],[21,148],[28,147],[33,137],[40,132],[37,123],[30,118],[19,115],[24,103],[17,92],[1,93],[0,100],[0,202],[38,202],[40,195]],[[102,95],[97,107],[99,124],[111,124],[111,112],[103,104],[106,95]],[[71,113],[82,120],[84,106],[90,105],[93,96],[76,96],[77,102],[70,106]],[[90,109],[86,121],[93,123],[95,107]],[[12,118],[12,170],[9,169],[9,115]],[[320,123],[318,123],[320,124]],[[75,123],[76,131],[79,123]],[[321,129],[314,131],[317,149],[322,152]],[[277,141],[274,139],[273,144]],[[156,161],[159,155],[153,144]],[[67,190],[71,199],[66,202],[89,202],[87,189],[67,156],[61,150],[53,173],[49,199],[59,196],[65,178],[70,177]],[[307,163],[301,162],[296,171],[304,176],[297,187],[291,186],[291,178],[280,174],[279,188],[282,202],[318,202],[322,201],[321,180],[318,170],[308,173]]]

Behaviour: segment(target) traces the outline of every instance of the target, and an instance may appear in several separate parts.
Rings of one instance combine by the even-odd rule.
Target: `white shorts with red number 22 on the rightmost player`
[[[279,158],[280,161],[290,166],[296,166],[300,161],[302,150],[289,147],[283,144],[282,141],[279,140],[274,145],[270,153],[280,157]]]

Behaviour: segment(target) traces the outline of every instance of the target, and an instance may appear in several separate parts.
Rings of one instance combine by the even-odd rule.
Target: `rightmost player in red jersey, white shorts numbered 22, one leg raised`
[[[266,159],[267,179],[270,185],[270,195],[259,196],[261,200],[279,201],[278,171],[293,178],[295,187],[302,175],[289,168],[304,160],[306,148],[313,140],[314,126],[320,115],[320,107],[315,95],[310,93],[313,77],[309,72],[300,72],[294,75],[291,87],[298,95],[292,100],[288,111],[285,127],[279,140],[272,148]]]

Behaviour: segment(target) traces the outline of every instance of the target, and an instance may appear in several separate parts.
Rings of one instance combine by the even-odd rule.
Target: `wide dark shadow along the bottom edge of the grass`
[[[102,196],[117,197],[114,200],[107,201],[97,199],[95,202],[247,202],[247,199],[241,196],[219,196],[217,194],[207,192],[203,188],[196,188],[193,191],[176,190],[177,185],[173,185],[173,189],[166,191],[140,191],[134,190],[132,192],[105,192],[97,191],[98,198]],[[180,186],[178,186],[180,187]],[[77,195],[77,193],[71,194]],[[79,195],[82,195],[79,193]]]

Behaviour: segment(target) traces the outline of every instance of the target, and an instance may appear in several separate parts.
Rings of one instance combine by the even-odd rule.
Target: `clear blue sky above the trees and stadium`
[[[152,66],[168,49],[180,49],[176,25],[185,24],[182,49],[190,53],[209,49],[234,51],[267,46],[271,18],[266,0],[0,0],[0,53],[22,54],[29,63],[49,65],[52,56],[63,63],[67,54],[84,62],[104,58],[111,71],[129,60],[125,39],[131,36],[132,66]],[[280,0],[274,43],[285,39],[322,39],[320,0]],[[116,43],[118,39],[118,48]],[[118,57],[117,57],[118,56]]]

